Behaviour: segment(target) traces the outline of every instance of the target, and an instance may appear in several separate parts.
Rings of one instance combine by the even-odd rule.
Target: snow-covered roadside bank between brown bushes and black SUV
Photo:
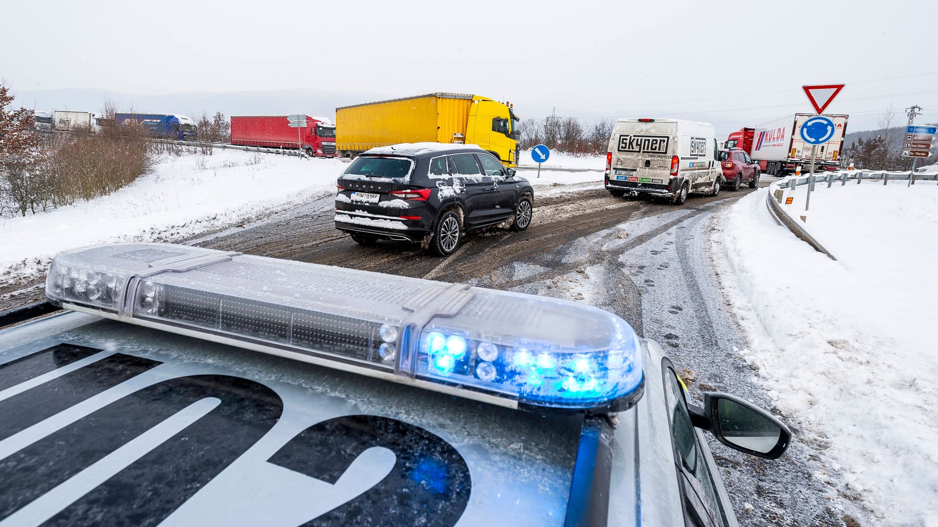
[[[346,167],[216,150],[162,156],[153,173],[113,194],[35,216],[0,218],[0,282],[44,271],[59,251],[116,241],[179,239],[335,188]]]

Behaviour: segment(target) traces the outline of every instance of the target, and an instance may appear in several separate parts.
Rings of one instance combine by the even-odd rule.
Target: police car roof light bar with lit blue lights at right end
[[[643,392],[631,326],[554,298],[172,244],[63,252],[46,296],[510,408],[618,412]]]

